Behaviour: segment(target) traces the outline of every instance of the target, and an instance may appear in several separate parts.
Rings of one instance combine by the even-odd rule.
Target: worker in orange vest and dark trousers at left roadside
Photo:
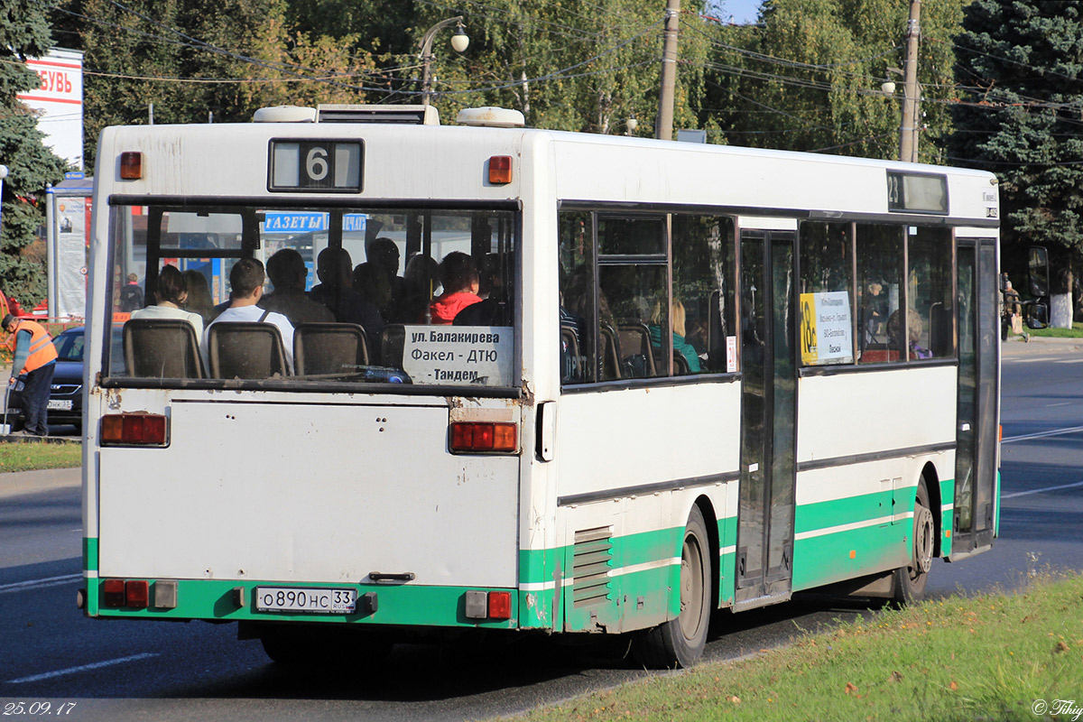
[[[26,421],[23,434],[30,436],[49,435],[49,392],[56,370],[56,346],[53,337],[44,327],[32,320],[16,318],[11,314],[3,317],[0,326],[15,334],[15,363],[11,379],[26,375],[23,382],[23,418]]]

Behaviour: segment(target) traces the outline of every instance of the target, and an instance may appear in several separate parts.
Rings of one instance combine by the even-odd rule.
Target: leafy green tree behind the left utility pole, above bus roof
[[[697,124],[694,109],[709,44],[699,15],[703,3],[682,4],[677,128]],[[434,23],[459,14],[449,2],[427,5],[415,29],[418,41]],[[664,0],[599,0],[589,8],[562,0],[491,0],[484,12],[465,14],[471,47],[462,56],[440,43],[434,103],[452,116],[464,106],[503,105],[522,110],[535,128],[593,133],[627,132],[627,120],[635,118],[636,133],[650,135],[664,18]]]

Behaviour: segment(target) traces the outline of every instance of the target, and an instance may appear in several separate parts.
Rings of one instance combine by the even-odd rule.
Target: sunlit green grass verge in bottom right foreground
[[[699,666],[536,710],[566,720],[1071,720],[1083,706],[1083,578],[871,613],[740,662]],[[1083,717],[1080,717],[1083,719]]]

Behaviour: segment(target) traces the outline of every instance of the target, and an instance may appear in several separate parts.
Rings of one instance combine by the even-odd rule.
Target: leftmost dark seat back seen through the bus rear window
[[[125,368],[144,379],[205,379],[196,329],[183,318],[132,318],[123,328]]]

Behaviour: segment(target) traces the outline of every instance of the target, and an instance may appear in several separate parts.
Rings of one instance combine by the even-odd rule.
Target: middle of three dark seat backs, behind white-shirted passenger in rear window
[[[270,379],[289,372],[282,333],[274,324],[211,324],[207,330],[207,358],[213,379]]]

